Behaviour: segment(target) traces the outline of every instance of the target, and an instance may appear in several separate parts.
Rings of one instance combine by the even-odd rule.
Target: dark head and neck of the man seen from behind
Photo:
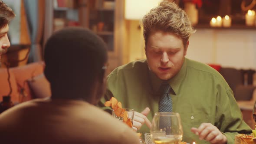
[[[44,53],[52,98],[90,99],[95,80],[103,81],[107,59],[105,42],[89,29],[69,27],[54,33]]]

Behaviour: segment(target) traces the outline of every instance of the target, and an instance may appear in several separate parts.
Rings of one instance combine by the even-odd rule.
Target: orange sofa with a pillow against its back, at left
[[[10,93],[14,104],[34,98],[45,98],[51,95],[50,84],[43,75],[44,62],[34,62],[27,65],[12,67],[10,86],[6,68],[0,68],[0,101],[2,96]]]

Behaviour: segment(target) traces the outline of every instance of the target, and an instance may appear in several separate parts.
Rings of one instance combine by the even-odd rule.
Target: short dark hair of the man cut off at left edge
[[[0,0],[0,29],[15,17],[13,10]]]

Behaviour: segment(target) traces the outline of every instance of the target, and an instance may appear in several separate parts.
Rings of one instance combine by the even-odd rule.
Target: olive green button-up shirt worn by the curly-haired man
[[[154,113],[158,112],[162,82],[149,70],[146,60],[122,65],[108,75],[108,90],[99,105],[103,107],[104,102],[114,96],[123,108],[141,112],[149,107],[151,112],[147,117],[152,121]],[[215,125],[226,135],[228,144],[234,143],[238,133],[251,133],[229,85],[210,66],[185,59],[180,72],[168,82],[172,88],[173,112],[181,115],[183,141],[207,143],[190,131],[202,123]],[[138,132],[144,134],[150,129],[144,124]]]

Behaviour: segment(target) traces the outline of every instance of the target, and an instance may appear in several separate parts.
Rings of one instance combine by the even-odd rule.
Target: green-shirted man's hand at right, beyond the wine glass
[[[210,123],[203,123],[198,128],[191,128],[194,134],[199,136],[200,140],[209,141],[211,144],[226,144],[227,139],[220,130]]]

